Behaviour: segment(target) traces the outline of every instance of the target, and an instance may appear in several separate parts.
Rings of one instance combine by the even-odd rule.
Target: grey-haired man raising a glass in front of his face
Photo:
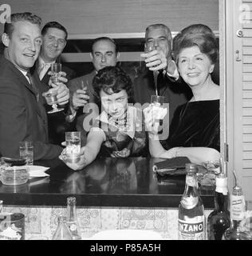
[[[191,98],[191,89],[179,78],[175,62],[171,58],[171,30],[163,24],[153,24],[145,31],[145,48],[152,47],[147,53],[141,54],[145,59],[146,69],[134,81],[133,94],[136,103],[144,106],[151,102],[156,94],[153,71],[158,70],[157,90],[169,103],[169,118],[163,120],[162,138],[168,136],[169,123],[177,106]]]

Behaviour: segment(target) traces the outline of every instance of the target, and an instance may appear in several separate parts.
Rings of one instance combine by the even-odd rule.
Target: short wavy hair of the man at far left
[[[9,37],[11,37],[14,31],[15,22],[30,22],[32,24],[37,24],[38,26],[41,26],[41,18],[37,15],[28,12],[16,13],[10,15],[10,23],[6,22],[4,24],[3,33],[6,33]]]

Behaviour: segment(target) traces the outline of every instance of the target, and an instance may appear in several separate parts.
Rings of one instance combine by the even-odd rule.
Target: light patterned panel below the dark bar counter
[[[66,214],[66,207],[5,206],[3,211],[26,216],[26,240],[45,237],[51,240],[57,228],[57,216]],[[211,210],[205,210],[206,217]],[[82,239],[101,230],[154,230],[163,239],[177,239],[178,209],[77,207]]]

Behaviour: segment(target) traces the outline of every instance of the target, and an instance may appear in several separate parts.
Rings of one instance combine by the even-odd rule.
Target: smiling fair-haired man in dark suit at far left
[[[41,48],[41,18],[30,13],[11,14],[5,23],[0,57],[0,154],[19,157],[19,142],[33,141],[33,158],[51,159],[61,146],[49,144],[47,115],[37,72],[30,72]],[[66,81],[65,78],[60,78]],[[64,83],[53,84],[57,103],[69,102]]]

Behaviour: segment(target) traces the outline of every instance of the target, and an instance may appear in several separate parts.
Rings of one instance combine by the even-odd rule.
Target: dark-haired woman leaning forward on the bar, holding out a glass
[[[93,78],[93,88],[100,105],[100,115],[81,148],[81,160],[67,162],[65,150],[61,159],[73,170],[80,170],[102,156],[126,158],[146,152],[146,134],[141,110],[129,106],[132,80],[118,66],[107,66]]]

